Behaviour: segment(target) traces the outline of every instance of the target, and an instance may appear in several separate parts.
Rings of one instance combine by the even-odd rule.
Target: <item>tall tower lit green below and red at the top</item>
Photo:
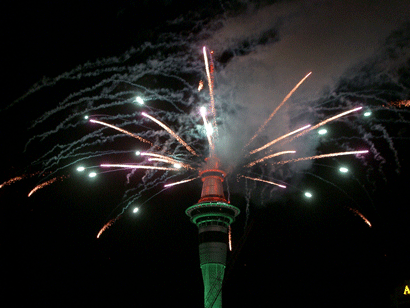
[[[228,230],[239,209],[227,203],[223,193],[226,173],[219,160],[208,157],[199,172],[202,179],[201,199],[185,213],[198,227],[199,262],[204,281],[204,307],[222,307],[222,281],[228,251]]]

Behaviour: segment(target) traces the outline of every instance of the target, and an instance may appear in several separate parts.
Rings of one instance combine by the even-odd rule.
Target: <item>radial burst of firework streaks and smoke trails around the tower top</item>
[[[157,43],[87,62],[33,85],[9,109],[19,104],[42,108],[38,101],[51,88],[66,87],[70,92],[55,91],[54,107],[30,123],[32,136],[25,153],[35,157],[31,167],[54,178],[80,164],[107,177],[121,174],[126,182],[116,204],[121,210],[107,218],[104,230],[118,221],[124,209],[160,194],[164,185],[172,190],[188,182],[199,186],[197,172],[204,159],[214,155],[227,171],[228,193],[245,192],[246,198],[261,204],[297,189],[295,175],[304,174],[319,159],[357,163],[366,192],[377,191],[380,179],[388,182],[392,174],[400,173],[399,148],[408,141],[405,126],[410,123],[406,110],[410,88],[401,72],[409,68],[390,51],[400,47],[403,54],[408,52],[410,44],[402,40],[410,37],[406,31],[400,34],[400,44],[392,35],[377,56],[365,65],[356,63],[354,73],[339,76],[326,91],[309,91],[315,67],[294,69],[286,78],[283,72],[271,72],[273,66],[258,67],[257,63],[274,61],[274,57],[257,58],[263,57],[261,49],[268,51],[274,45],[266,38],[272,29],[261,32],[263,40],[243,36],[217,43],[212,30],[217,28],[198,28],[198,35],[187,37],[167,33]],[[215,42],[214,53],[201,48],[199,38],[204,37]],[[305,75],[310,69],[315,74]],[[273,98],[270,87],[278,84],[279,94],[275,91]],[[394,94],[386,90],[393,87]],[[202,106],[209,114],[198,112]],[[15,109],[16,114],[21,112]],[[365,117],[364,111],[371,111],[371,116]],[[315,130],[324,125],[327,134],[318,135]],[[137,150],[147,157],[130,154]],[[237,176],[240,181],[235,181]],[[3,179],[0,188],[19,180]],[[312,194],[313,199],[320,198]]]

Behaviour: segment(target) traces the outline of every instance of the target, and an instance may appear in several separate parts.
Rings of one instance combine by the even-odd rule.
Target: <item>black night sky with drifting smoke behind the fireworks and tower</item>
[[[224,307],[392,305],[395,288],[410,279],[408,1],[39,1],[10,4],[3,14],[0,185],[22,177],[0,188],[3,301],[203,305],[197,229],[185,215],[201,182],[162,191],[197,170],[99,165],[147,164],[134,153],[149,150],[201,166],[207,46],[225,195],[241,210],[232,224]],[[326,135],[313,130],[272,147],[296,156],[243,167],[253,159],[249,150],[358,106],[326,124]],[[141,111],[167,123],[199,156]],[[369,153],[271,164],[362,149]],[[85,172],[76,171],[80,165]]]

